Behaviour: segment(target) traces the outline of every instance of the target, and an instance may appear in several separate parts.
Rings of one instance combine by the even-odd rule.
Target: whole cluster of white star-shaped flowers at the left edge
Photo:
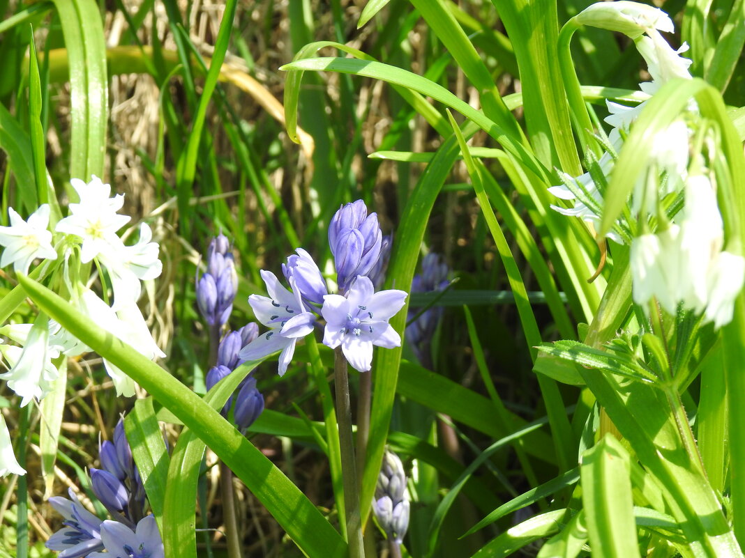
[[[51,222],[48,204],[39,206],[27,220],[8,208],[10,225],[0,227],[0,246],[4,248],[0,266],[12,263],[16,273],[26,274],[34,260],[44,260],[42,271],[51,275],[49,284],[61,285],[60,294],[93,323],[149,359],[164,357],[137,306],[142,281],[154,279],[162,271],[159,246],[152,242],[150,227],[142,223],[139,240],[131,246],[125,244],[118,232],[130,221],[130,217],[118,213],[124,196],[111,197],[110,185],[95,176],[88,183],[79,179],[70,183],[79,201],[70,203],[69,215],[56,223]],[[91,266],[92,262],[96,265]],[[89,287],[91,269],[107,275],[112,295],[104,292],[106,301]],[[101,284],[105,289],[103,278]],[[34,324],[7,324],[0,328],[0,334],[15,343],[0,344],[8,368],[0,379],[21,397],[22,406],[42,400],[51,391],[59,376],[54,359],[90,351],[74,333],[42,313]],[[134,395],[132,379],[106,359],[104,367],[117,394]],[[10,460],[12,452],[4,443],[6,432],[4,423],[0,424],[0,473],[4,474],[20,469],[15,458]]]

